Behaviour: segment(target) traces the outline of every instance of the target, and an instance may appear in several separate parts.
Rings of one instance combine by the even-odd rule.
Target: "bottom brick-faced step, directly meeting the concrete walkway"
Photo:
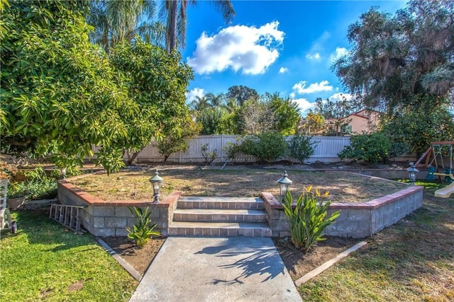
[[[271,229],[267,223],[173,221],[169,226],[169,235],[271,237]]]

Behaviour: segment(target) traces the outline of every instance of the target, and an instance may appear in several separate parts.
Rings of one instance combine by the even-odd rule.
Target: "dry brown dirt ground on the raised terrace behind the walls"
[[[205,169],[179,165],[162,167],[162,195],[164,197],[175,190],[182,191],[184,196],[258,197],[260,192],[270,192],[275,196],[279,194],[276,181],[281,178],[283,169],[235,169],[236,166],[228,170],[220,170],[220,167]],[[141,167],[111,175],[89,175],[69,181],[104,200],[150,201],[153,192],[148,180],[153,174],[153,168]],[[366,176],[345,171],[292,170],[289,171],[289,178],[294,182],[290,187],[294,197],[298,197],[304,187],[314,185],[315,190],[328,191],[333,202],[367,202],[406,187],[400,182],[371,180]]]

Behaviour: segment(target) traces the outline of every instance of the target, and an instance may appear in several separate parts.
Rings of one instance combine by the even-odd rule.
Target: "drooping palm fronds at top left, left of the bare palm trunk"
[[[90,38],[110,52],[119,41],[133,40],[140,35],[146,42],[164,45],[165,26],[155,22],[156,5],[153,0],[94,0],[90,1],[87,22],[94,26]]]

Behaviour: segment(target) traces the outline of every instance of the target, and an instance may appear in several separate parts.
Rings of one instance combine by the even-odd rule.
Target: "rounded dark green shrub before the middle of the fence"
[[[272,163],[284,156],[288,148],[282,135],[275,132],[265,132],[246,137],[241,144],[241,150],[258,158],[262,163]]]

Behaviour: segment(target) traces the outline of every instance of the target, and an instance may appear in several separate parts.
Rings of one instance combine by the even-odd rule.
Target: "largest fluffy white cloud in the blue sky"
[[[284,40],[279,22],[255,26],[235,25],[209,37],[202,33],[196,40],[196,50],[187,58],[197,74],[210,74],[228,68],[243,74],[263,74],[273,64]]]

